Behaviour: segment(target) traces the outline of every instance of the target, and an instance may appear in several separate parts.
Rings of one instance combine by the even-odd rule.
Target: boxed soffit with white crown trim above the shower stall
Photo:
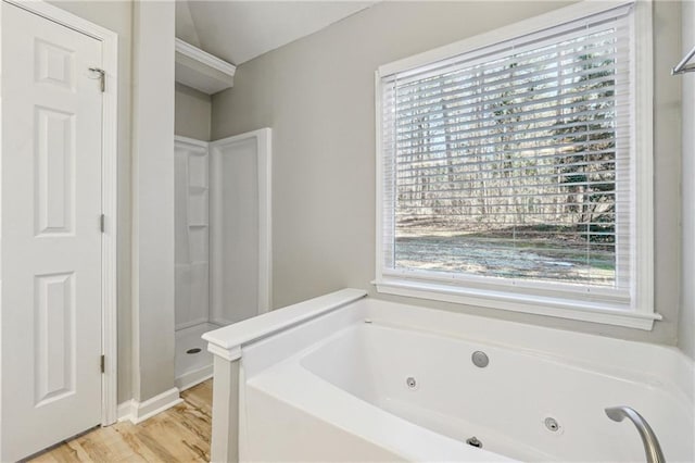
[[[233,85],[237,67],[181,39],[176,39],[176,82],[213,95]]]

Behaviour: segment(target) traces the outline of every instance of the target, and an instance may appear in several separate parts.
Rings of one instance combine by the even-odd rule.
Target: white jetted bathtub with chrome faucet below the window
[[[693,365],[675,349],[369,298],[304,318],[240,342],[241,461],[644,461],[615,405],[667,461],[695,460]]]

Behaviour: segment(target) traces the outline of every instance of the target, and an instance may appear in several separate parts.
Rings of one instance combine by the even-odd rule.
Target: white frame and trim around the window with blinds
[[[434,272],[393,271],[384,268],[383,224],[384,203],[383,153],[381,139],[381,82],[395,73],[424,67],[439,61],[471,52],[484,47],[513,40],[553,28],[568,22],[601,14],[631,4],[631,72],[633,73],[634,113],[631,114],[632,184],[634,188],[634,218],[631,229],[631,256],[635,267],[627,299],[599,297],[596,300],[576,299],[576,292],[543,291],[543,284],[529,283],[521,287],[500,283],[500,278]],[[583,1],[549,13],[531,17],[509,26],[466,38],[379,66],[375,73],[376,152],[377,152],[377,236],[376,279],[372,284],[380,293],[453,302],[514,312],[548,315],[585,322],[618,325],[649,330],[661,320],[654,306],[654,185],[653,185],[653,120],[654,77],[652,42],[652,0]],[[636,33],[639,32],[639,34]],[[639,256],[639,259],[637,259]],[[592,291],[596,291],[592,288]],[[601,292],[597,290],[596,292]],[[572,298],[572,296],[574,298]]]

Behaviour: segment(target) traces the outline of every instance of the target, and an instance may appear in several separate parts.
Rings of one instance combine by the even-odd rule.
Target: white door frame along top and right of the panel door
[[[2,0],[29,13],[85,34],[102,42],[102,67],[106,86],[102,100],[101,211],[101,353],[105,356],[101,378],[101,425],[117,420],[117,136],[118,136],[118,35],[43,0]],[[2,8],[0,8],[0,21]],[[1,40],[1,38],[0,38]],[[0,42],[1,45],[1,42]]]

